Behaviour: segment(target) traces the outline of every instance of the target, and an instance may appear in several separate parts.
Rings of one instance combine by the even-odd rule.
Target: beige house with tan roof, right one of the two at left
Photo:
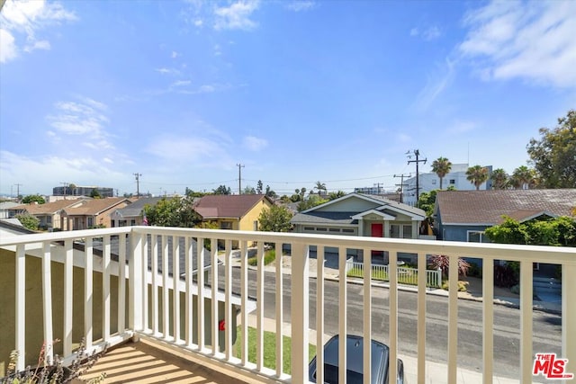
[[[88,229],[95,227],[112,227],[111,214],[130,204],[130,200],[122,197],[108,197],[86,201],[78,207],[62,210],[62,218],[66,221],[67,230]]]

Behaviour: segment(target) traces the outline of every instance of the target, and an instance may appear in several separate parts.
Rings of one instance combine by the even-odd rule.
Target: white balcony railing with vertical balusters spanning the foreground
[[[202,246],[211,243],[211,252]],[[233,287],[231,267],[232,242],[238,244],[241,254],[239,289]],[[204,273],[209,262],[218,265],[217,245],[224,245],[224,264],[212,267]],[[248,297],[248,246],[257,244],[257,257],[263,260],[265,243],[273,245],[276,255],[281,255],[284,245],[290,245],[292,276],[290,290],[290,322],[292,326],[292,375],[284,373],[283,323],[284,287],[282,258],[275,262],[275,299],[264,301],[265,270],[262,263],[257,267],[257,288],[254,298]],[[315,298],[311,300],[310,261],[311,246],[318,269],[315,282]],[[377,237],[316,236],[302,234],[278,234],[266,232],[244,232],[226,230],[203,230],[184,228],[109,228],[51,234],[24,235],[0,238],[0,262],[14,264],[14,292],[3,292],[14,297],[14,344],[21,356],[33,356],[31,337],[36,335],[48,346],[59,338],[67,360],[74,357],[74,348],[79,339],[85,338],[87,349],[97,350],[104,345],[119,344],[130,337],[148,337],[161,341],[180,352],[193,353],[200,359],[210,360],[258,380],[308,381],[309,328],[316,329],[317,345],[324,342],[325,334],[325,270],[324,248],[338,249],[338,334],[347,335],[347,249],[364,251],[365,265],[371,269],[371,251],[388,251],[390,260],[389,316],[386,342],[390,346],[390,361],[395,362],[399,354],[399,283],[398,253],[418,255],[418,344],[415,351],[417,364],[406,367],[414,371],[418,382],[424,382],[427,374],[427,273],[426,256],[430,254],[450,257],[448,313],[447,313],[447,382],[457,380],[457,257],[469,256],[482,259],[483,304],[482,304],[482,356],[477,356],[482,365],[483,381],[491,383],[494,377],[494,305],[493,264],[495,260],[512,260],[520,263],[520,358],[521,382],[531,382],[533,351],[533,263],[562,264],[562,355],[568,359],[568,372],[576,372],[576,250],[574,248],[547,246],[505,246],[494,244],[470,244],[430,240],[405,240]],[[221,257],[221,255],[220,255]],[[333,256],[330,256],[333,257]],[[40,263],[39,263],[40,261]],[[4,264],[5,263],[5,264]],[[31,265],[39,263],[40,273],[31,271]],[[181,266],[182,264],[182,266]],[[158,266],[152,268],[151,265]],[[220,273],[223,270],[223,276]],[[220,272],[220,273],[219,273]],[[175,279],[174,276],[179,278]],[[223,280],[223,281],[222,281]],[[81,284],[78,284],[78,281]],[[223,290],[216,287],[221,286]],[[373,338],[372,317],[373,292],[370,274],[365,273],[363,288],[363,335]],[[220,284],[219,284],[220,283]],[[29,292],[34,284],[41,290],[41,305],[34,308]],[[56,288],[55,288],[56,287]],[[59,287],[59,288],[58,288]],[[233,290],[235,293],[233,293]],[[178,294],[174,294],[178,292]],[[238,294],[236,294],[238,293]],[[242,359],[232,354],[233,325],[239,310],[239,329],[242,340],[247,340],[248,311],[254,309],[256,300],[257,359],[247,361],[247,343],[242,344]],[[311,324],[311,302],[315,303],[315,324]],[[59,303],[59,304],[58,304]],[[195,304],[194,304],[195,303]],[[220,303],[220,304],[219,304]],[[32,307],[32,308],[31,308]],[[60,313],[60,308],[62,313]],[[276,368],[265,367],[263,356],[265,309],[274,308],[276,330]],[[4,310],[4,309],[3,309]],[[34,311],[37,310],[37,316]],[[4,312],[4,314],[7,312]],[[10,313],[13,313],[12,311]],[[270,310],[268,310],[268,314]],[[10,317],[10,315],[7,315]],[[33,317],[33,318],[32,318]],[[219,332],[220,320],[225,320],[225,330]],[[266,320],[268,321],[268,320]],[[40,322],[40,324],[37,324]],[[1,328],[0,328],[1,329]],[[221,338],[223,337],[223,341]],[[10,340],[5,338],[3,340]],[[219,347],[220,345],[220,347]],[[340,382],[345,382],[346,350],[340,344]],[[370,344],[365,343],[365,372],[370,372]],[[5,347],[4,347],[5,349]],[[4,350],[2,350],[4,353]],[[48,353],[54,349],[47,348]],[[0,356],[0,360],[4,356]],[[323,366],[321,348],[317,351],[317,365]],[[19,361],[23,369],[26,362]],[[390,377],[397,374],[396,364],[390,366]],[[318,372],[319,382],[322,372]],[[365,382],[369,382],[369,374]]]

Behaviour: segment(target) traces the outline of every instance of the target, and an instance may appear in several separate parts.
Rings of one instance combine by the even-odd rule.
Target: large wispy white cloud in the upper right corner
[[[575,87],[575,14],[571,0],[493,2],[466,15],[470,30],[459,49],[485,79]]]

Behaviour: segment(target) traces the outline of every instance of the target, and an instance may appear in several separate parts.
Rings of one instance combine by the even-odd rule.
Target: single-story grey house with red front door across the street
[[[428,238],[424,210],[382,196],[357,192],[303,210],[295,214],[291,222],[298,233]],[[357,256],[363,258],[361,253]],[[413,258],[404,256],[410,261]]]

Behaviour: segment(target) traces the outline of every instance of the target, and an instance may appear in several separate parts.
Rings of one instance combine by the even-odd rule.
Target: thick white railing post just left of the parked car
[[[292,382],[302,384],[308,382],[309,247],[293,243],[291,250]]]

